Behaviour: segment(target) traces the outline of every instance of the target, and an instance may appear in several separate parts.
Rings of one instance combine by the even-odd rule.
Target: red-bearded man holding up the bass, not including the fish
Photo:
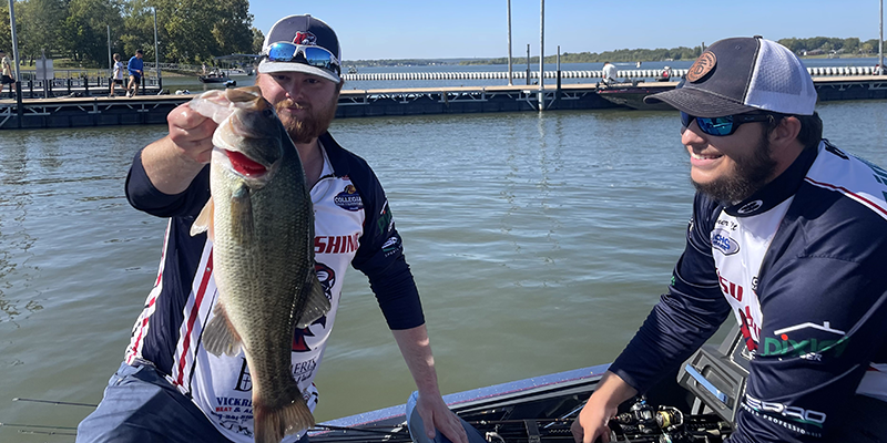
[[[343,277],[354,266],[369,278],[418,387],[425,431],[434,437],[437,427],[466,443],[459,419],[438,389],[419,293],[385,192],[367,163],[327,132],[343,85],[336,33],[310,16],[286,17],[272,27],[262,52],[256,85],[275,106],[305,168],[315,212],[315,270],[332,305],[293,339],[293,377],[308,408],[318,401],[313,381],[335,322]],[[78,427],[78,442],[252,443],[255,434],[243,351],[216,357],[201,341],[217,299],[213,246],[205,235],[192,237],[190,229],[210,198],[207,163],[217,124],[187,104],[173,110],[167,123],[169,135],[136,154],[126,179],[133,207],[170,218],[160,275],[125,360],[99,408]],[[284,442],[307,440],[305,430],[292,431]]]

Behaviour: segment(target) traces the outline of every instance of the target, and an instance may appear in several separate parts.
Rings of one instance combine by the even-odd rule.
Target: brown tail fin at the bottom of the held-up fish
[[[253,401],[253,431],[256,443],[279,443],[284,435],[295,434],[314,426],[314,415],[305,403],[298,387],[294,387],[292,402],[269,406],[261,400]]]

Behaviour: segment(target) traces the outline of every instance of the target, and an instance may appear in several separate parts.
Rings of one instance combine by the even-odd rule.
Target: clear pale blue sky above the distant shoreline
[[[508,55],[507,0],[253,0],[253,24],[310,13],[345,60]],[[726,37],[878,38],[878,0],[546,1],[546,55],[696,47]],[[539,54],[540,0],[511,0],[512,56]]]

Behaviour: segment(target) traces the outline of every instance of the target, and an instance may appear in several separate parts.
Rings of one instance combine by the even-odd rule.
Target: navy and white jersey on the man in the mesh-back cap
[[[827,141],[736,205],[697,193],[667,293],[610,370],[645,392],[730,312],[751,351],[731,442],[834,441],[887,401],[887,172]]]

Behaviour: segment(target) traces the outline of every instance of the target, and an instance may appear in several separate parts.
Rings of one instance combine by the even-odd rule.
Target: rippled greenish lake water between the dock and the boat
[[[825,136],[887,165],[887,101],[818,106]],[[443,393],[606,363],[683,248],[692,186],[675,112],[350,119],[330,132],[387,189]],[[165,126],[0,133],[0,422],[75,426],[123,358],[165,222],[123,195]],[[318,420],[415,389],[357,271],[316,380]],[[732,320],[731,320],[732,321]],[[71,442],[0,427],[0,441]]]

